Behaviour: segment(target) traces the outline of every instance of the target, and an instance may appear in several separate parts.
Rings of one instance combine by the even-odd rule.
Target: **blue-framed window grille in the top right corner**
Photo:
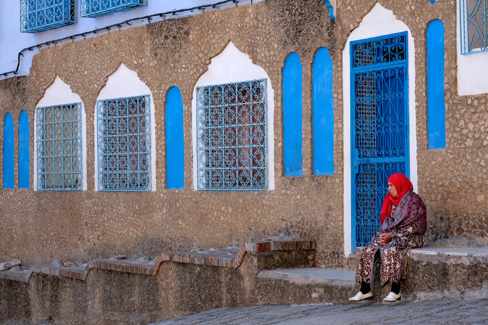
[[[488,0],[459,0],[461,54],[488,51]]]

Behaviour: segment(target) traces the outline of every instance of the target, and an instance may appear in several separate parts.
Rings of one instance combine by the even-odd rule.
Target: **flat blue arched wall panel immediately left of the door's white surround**
[[[312,80],[314,174],[334,173],[334,98],[332,60],[321,47],[315,54]]]

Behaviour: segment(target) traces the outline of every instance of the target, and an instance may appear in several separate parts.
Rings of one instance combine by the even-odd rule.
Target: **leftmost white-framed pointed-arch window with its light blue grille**
[[[81,98],[56,77],[36,105],[35,190],[86,190],[85,120]]]

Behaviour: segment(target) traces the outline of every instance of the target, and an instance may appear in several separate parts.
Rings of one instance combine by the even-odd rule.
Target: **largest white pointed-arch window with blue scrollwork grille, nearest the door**
[[[274,189],[273,109],[268,75],[230,42],[194,87],[195,190]]]

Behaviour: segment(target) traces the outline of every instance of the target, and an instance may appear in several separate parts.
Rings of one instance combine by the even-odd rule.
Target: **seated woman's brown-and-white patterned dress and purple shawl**
[[[361,251],[358,282],[371,283],[374,258],[378,250],[383,266],[381,285],[388,281],[399,283],[400,279],[405,279],[407,277],[407,250],[423,246],[425,217],[425,205],[414,192],[406,194],[398,207],[393,205],[390,217],[385,219],[375,237]],[[379,236],[385,231],[391,232],[391,240],[386,245],[380,245]]]

